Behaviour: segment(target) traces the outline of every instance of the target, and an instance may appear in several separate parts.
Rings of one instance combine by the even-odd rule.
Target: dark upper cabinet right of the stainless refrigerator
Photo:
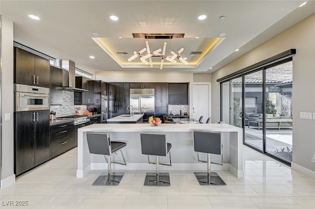
[[[188,104],[188,84],[168,84],[168,104]]]

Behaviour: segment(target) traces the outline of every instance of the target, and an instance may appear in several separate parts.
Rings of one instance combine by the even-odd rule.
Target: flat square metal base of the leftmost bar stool
[[[103,172],[94,181],[92,186],[118,186],[120,181],[123,179],[125,173],[123,172],[112,172],[110,175]]]

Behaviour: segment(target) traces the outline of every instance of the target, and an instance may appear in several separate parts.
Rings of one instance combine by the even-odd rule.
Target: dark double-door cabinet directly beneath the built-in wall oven
[[[15,112],[16,176],[49,160],[49,110]]]

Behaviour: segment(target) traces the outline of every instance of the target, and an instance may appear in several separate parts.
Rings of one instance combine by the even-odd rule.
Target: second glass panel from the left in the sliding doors
[[[242,112],[242,77],[231,80],[230,88],[230,124],[242,128],[242,118],[240,117]]]

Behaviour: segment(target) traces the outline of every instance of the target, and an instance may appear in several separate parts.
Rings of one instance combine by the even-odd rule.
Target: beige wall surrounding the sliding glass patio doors
[[[315,14],[212,73],[212,116],[219,120],[220,86],[217,79],[289,49],[293,57],[293,164],[315,178],[315,119],[299,119],[300,112],[315,113]],[[296,168],[296,166],[294,166]],[[303,170],[302,169],[302,170]],[[300,170],[302,172],[302,170]]]

